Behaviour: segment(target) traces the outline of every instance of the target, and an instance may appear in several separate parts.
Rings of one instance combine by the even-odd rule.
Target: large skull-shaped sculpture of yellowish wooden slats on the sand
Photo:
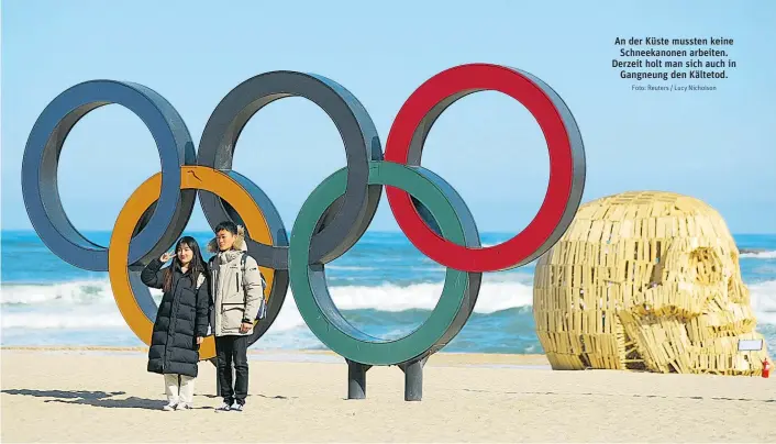
[[[533,314],[553,369],[760,375],[768,357],[739,351],[763,336],[724,220],[676,193],[581,206],[536,264]]]

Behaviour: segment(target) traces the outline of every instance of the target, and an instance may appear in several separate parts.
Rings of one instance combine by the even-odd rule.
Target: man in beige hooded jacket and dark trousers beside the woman
[[[214,231],[215,238],[208,244],[208,251],[215,253],[210,259],[212,322],[223,398],[217,411],[243,411],[248,392],[247,340],[264,304],[264,282],[256,259],[247,254],[243,227],[225,221]]]

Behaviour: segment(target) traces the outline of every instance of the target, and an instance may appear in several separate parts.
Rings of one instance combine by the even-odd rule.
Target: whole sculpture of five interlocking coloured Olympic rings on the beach
[[[456,100],[496,90],[520,101],[536,119],[550,151],[550,184],[531,223],[509,241],[481,247],[465,202],[444,179],[422,167],[423,144],[434,121]],[[336,125],[346,167],[328,177],[303,203],[290,240],[271,200],[256,184],[232,170],[237,137],[262,108],[285,97],[318,104]],[[156,142],[162,171],[128,199],[108,248],[87,240],[70,223],[59,200],[57,167],[65,138],[88,112],[118,103],[135,113]],[[218,104],[199,148],[175,108],[142,85],[92,80],[57,96],[35,122],[24,151],[22,190],[30,220],[57,256],[88,270],[108,271],[117,306],[145,344],[151,343],[156,303],[140,270],[182,234],[199,196],[211,227],[232,220],[246,229],[248,254],[267,281],[268,313],[250,343],[273,324],[289,285],[299,312],[315,336],[348,363],[348,397],[363,398],[366,370],[398,365],[407,376],[406,399],[420,399],[422,365],[468,320],[484,271],[530,263],[563,235],[585,186],[585,151],[570,111],[539,78],[490,64],[461,65],[421,85],[390,129],[385,156],[377,130],[362,103],[322,76],[271,71],[252,77]],[[383,340],[351,325],[333,303],[324,266],[347,252],[366,232],[383,192],[412,244],[447,267],[442,296],[429,319],[407,336]],[[200,358],[215,355],[208,336]]]

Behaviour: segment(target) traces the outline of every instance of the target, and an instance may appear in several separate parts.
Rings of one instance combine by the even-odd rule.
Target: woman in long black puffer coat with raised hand
[[[210,292],[206,262],[193,237],[185,236],[141,273],[143,284],[164,290],[148,349],[148,371],[165,377],[164,410],[188,410],[193,404],[199,345],[208,334]],[[175,257],[173,265],[162,266]]]

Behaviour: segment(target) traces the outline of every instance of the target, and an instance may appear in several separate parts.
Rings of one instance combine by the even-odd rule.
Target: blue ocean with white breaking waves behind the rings
[[[126,326],[107,273],[76,268],[53,253],[34,231],[2,231],[3,346],[142,346]],[[200,246],[210,232],[186,233]],[[110,232],[85,233],[107,245]],[[484,245],[512,234],[483,233]],[[743,279],[757,315],[757,330],[776,349],[776,234],[736,235]],[[206,256],[209,257],[209,255]],[[402,233],[367,232],[344,256],[326,265],[332,298],[361,330],[396,337],[420,325],[441,295],[445,268],[423,256]],[[443,349],[458,353],[541,354],[534,333],[534,263],[486,273],[475,312]],[[160,292],[153,290],[157,299]],[[286,302],[259,349],[325,348],[302,321],[289,289]],[[773,352],[772,352],[773,353]]]

